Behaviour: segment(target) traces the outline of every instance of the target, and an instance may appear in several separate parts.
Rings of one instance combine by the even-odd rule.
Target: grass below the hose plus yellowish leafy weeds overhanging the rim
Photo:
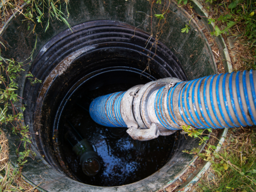
[[[210,131],[210,129],[208,129]],[[239,131],[238,134],[234,132]],[[216,152],[216,146],[206,143],[209,137],[202,137],[205,129],[193,129],[183,126],[183,131],[190,137],[198,137],[202,143],[206,144],[206,148],[199,153],[198,148],[191,151],[184,150],[184,153],[195,154],[204,161],[210,161],[214,173],[218,176],[214,182],[206,183],[202,180],[200,184],[200,192],[212,191],[239,191],[239,192],[255,192],[256,188],[256,132],[255,128],[232,128],[231,139],[228,143],[223,144],[224,148],[221,152]],[[210,131],[211,132],[211,131]],[[217,139],[217,138],[216,138]],[[215,184],[213,184],[215,183]]]

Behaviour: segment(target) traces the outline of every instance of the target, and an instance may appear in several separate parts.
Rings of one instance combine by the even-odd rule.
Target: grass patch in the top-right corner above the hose
[[[256,69],[256,1],[255,0],[206,0],[206,8],[212,13],[209,23],[215,22],[213,36],[238,39],[238,64],[236,71]],[[224,28],[221,28],[221,26]]]

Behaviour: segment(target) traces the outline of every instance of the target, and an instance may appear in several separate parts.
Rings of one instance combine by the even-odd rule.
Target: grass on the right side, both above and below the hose
[[[205,0],[215,22],[211,35],[235,37],[238,62],[233,70],[256,69],[256,1]],[[222,26],[222,29],[220,29]],[[224,28],[223,28],[224,26]],[[209,147],[208,147],[209,148]],[[208,150],[208,153],[207,153]],[[199,192],[256,192],[256,127],[231,128],[219,153],[207,149],[201,158],[211,161],[211,172],[201,179]]]

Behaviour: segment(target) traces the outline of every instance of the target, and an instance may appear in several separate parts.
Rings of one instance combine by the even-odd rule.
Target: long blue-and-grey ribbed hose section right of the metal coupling
[[[215,74],[165,89],[155,97],[155,114],[165,128],[256,125],[256,71]]]

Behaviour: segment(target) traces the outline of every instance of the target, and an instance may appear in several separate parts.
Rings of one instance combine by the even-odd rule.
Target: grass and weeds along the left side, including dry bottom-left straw
[[[24,15],[25,19],[34,22],[35,26],[41,25],[45,30],[48,29],[49,22],[53,19],[61,20],[70,27],[66,20],[69,16],[67,9],[68,0],[25,0],[25,2],[27,5],[21,11],[21,6],[24,3],[22,0],[0,1],[0,21],[2,26],[15,11],[18,11],[19,14]],[[66,5],[65,10],[63,10],[62,5]],[[47,19],[45,26],[42,24],[44,19]],[[34,29],[32,31],[34,32]],[[0,42],[0,45],[1,49],[6,49],[2,42]],[[33,52],[34,50],[27,60],[30,59],[32,61]],[[31,135],[28,126],[23,123],[23,113],[15,107],[19,106],[21,110],[25,110],[25,106],[19,101],[20,97],[16,93],[18,84],[15,79],[18,78],[21,71],[25,71],[31,83],[40,81],[30,72],[26,71],[23,68],[23,64],[24,62],[17,62],[14,59],[4,58],[0,55],[0,126],[8,127],[13,134],[18,135],[20,142],[16,149],[18,162],[14,168],[9,162],[1,164],[0,159],[0,192],[27,191],[27,189],[31,188],[29,184],[22,180],[21,171],[23,165],[27,163],[27,158],[34,159],[36,154],[31,149]],[[2,153],[2,146],[0,152]]]

